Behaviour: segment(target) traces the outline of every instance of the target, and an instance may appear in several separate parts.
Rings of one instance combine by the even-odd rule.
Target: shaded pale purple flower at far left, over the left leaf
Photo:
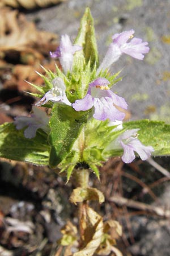
[[[16,117],[14,125],[17,130],[21,130],[28,126],[24,131],[24,136],[27,139],[32,139],[36,136],[37,129],[41,128],[46,133],[49,131],[48,123],[49,117],[46,113],[35,106],[32,107],[33,113],[30,117]]]

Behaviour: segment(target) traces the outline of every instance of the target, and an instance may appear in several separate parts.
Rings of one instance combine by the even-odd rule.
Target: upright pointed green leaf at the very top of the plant
[[[97,53],[97,44],[95,38],[95,28],[94,20],[91,16],[89,8],[86,8],[86,11],[83,15],[83,18],[80,23],[80,29],[78,36],[75,39],[74,44],[83,47],[83,53],[86,60],[86,64],[91,60],[91,66],[95,63],[98,63],[98,53]],[[82,51],[75,53],[75,60],[78,61],[82,56]]]

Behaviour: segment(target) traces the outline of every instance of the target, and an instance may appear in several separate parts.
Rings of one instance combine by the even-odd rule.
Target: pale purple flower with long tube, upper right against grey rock
[[[147,42],[142,42],[142,39],[133,38],[133,34],[134,30],[129,30],[112,36],[113,42],[110,44],[100,67],[97,69],[98,73],[101,69],[109,68],[123,53],[135,59],[143,60],[144,54],[148,53],[150,48],[147,46]],[[131,40],[128,42],[129,39]]]

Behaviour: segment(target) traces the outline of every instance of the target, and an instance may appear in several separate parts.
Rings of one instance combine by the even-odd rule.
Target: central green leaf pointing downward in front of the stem
[[[56,167],[70,153],[83,125],[87,113],[76,112],[71,106],[55,104],[50,119],[50,166]]]

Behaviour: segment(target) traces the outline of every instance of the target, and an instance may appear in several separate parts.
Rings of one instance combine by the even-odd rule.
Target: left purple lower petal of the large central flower
[[[88,109],[91,109],[94,105],[93,98],[90,94],[86,94],[84,98],[81,100],[76,100],[72,106],[76,111],[86,111]]]

